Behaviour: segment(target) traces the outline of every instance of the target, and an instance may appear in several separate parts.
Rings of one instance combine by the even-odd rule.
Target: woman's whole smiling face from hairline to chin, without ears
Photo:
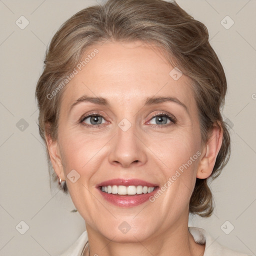
[[[57,174],[87,229],[108,239],[137,241],[187,226],[201,153],[188,77],[152,45],[106,42],[82,60],[94,48],[62,94]]]

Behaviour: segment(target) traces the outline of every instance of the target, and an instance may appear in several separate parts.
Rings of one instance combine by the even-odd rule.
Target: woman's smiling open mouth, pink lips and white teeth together
[[[133,207],[148,201],[159,186],[140,179],[111,179],[98,184],[97,189],[107,202]]]

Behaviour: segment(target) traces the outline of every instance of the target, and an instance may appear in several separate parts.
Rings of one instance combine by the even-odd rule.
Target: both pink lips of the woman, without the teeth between
[[[101,191],[101,186],[107,186],[107,185],[142,185],[142,186],[154,186],[154,190],[150,193],[142,193],[142,194],[136,194],[136,195],[119,195],[119,194],[108,194],[106,192]],[[159,186],[157,184],[153,184],[141,179],[111,179],[104,182],[101,182],[97,185],[99,193],[103,196],[105,200],[108,202],[121,206],[121,207],[133,207],[137,206],[141,203],[144,203],[149,200],[149,197],[152,196],[158,189]]]

